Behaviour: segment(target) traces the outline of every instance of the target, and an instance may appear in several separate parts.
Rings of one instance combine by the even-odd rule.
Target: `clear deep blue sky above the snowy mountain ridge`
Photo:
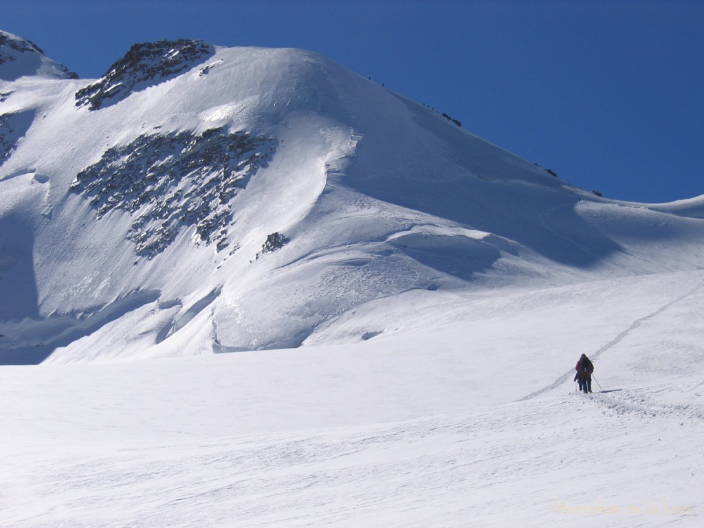
[[[81,77],[135,42],[317,51],[614,199],[704,194],[704,1],[4,0]]]

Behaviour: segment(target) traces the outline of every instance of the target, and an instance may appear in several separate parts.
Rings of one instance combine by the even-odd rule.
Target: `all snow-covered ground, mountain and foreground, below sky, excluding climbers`
[[[0,527],[702,524],[704,196],[307,51],[0,51]]]

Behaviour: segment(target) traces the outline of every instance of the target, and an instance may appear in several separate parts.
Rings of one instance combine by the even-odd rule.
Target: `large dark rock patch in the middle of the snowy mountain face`
[[[115,209],[130,213],[127,237],[139,256],[156,256],[190,226],[221,251],[233,218],[230,201],[267,165],[275,146],[272,137],[226,127],[142,135],[108,149],[78,173],[71,190],[90,199],[97,218]]]

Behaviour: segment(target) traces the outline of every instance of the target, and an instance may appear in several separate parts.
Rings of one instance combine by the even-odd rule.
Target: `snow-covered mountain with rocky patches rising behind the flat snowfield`
[[[1,38],[7,362],[362,339],[340,321],[408,291],[702,260],[701,199],[601,199],[308,51],[136,44],[77,80]]]

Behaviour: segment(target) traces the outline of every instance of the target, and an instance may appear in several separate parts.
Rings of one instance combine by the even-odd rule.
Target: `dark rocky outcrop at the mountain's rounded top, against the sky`
[[[134,44],[101,80],[76,92],[76,106],[98,110],[118,103],[132,92],[176,77],[215,54],[202,40],[160,40]]]

